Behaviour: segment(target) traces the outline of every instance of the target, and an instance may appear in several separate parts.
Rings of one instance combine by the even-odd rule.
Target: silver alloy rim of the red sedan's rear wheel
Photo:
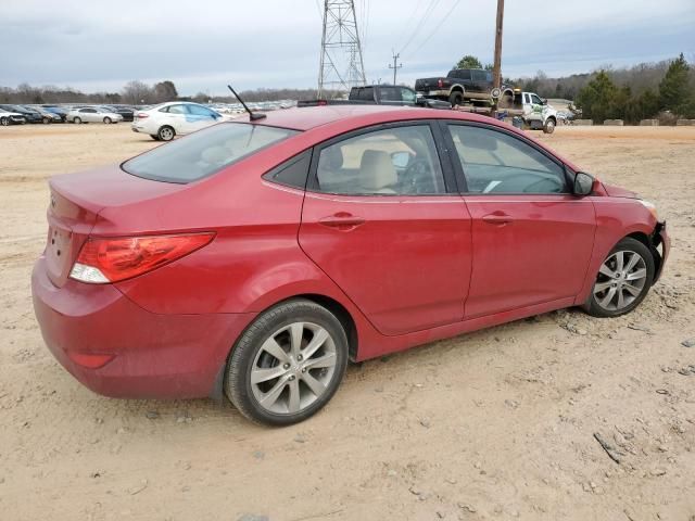
[[[336,342],[323,327],[293,322],[270,334],[251,366],[251,389],[268,412],[294,415],[328,389],[336,372]]]

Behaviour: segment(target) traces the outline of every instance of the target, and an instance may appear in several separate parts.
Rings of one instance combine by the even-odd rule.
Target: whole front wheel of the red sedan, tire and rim
[[[649,249],[635,239],[624,238],[602,263],[583,309],[592,317],[601,318],[632,312],[647,296],[654,272],[654,256]]]

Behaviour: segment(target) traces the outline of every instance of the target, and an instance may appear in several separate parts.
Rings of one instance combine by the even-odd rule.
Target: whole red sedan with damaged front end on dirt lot
[[[653,204],[491,118],[325,106],[224,123],[50,181],[31,289],[98,393],[308,418],[348,360],[553,309],[634,309]]]

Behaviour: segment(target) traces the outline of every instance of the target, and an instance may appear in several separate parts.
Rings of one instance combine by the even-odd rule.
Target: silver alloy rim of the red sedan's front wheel
[[[594,297],[604,309],[616,312],[630,306],[645,289],[647,266],[644,258],[632,251],[610,255],[598,270]]]

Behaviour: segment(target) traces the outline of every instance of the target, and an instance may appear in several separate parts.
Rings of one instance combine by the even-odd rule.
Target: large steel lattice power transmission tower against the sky
[[[350,90],[366,84],[355,2],[325,0],[318,97],[325,90]]]

